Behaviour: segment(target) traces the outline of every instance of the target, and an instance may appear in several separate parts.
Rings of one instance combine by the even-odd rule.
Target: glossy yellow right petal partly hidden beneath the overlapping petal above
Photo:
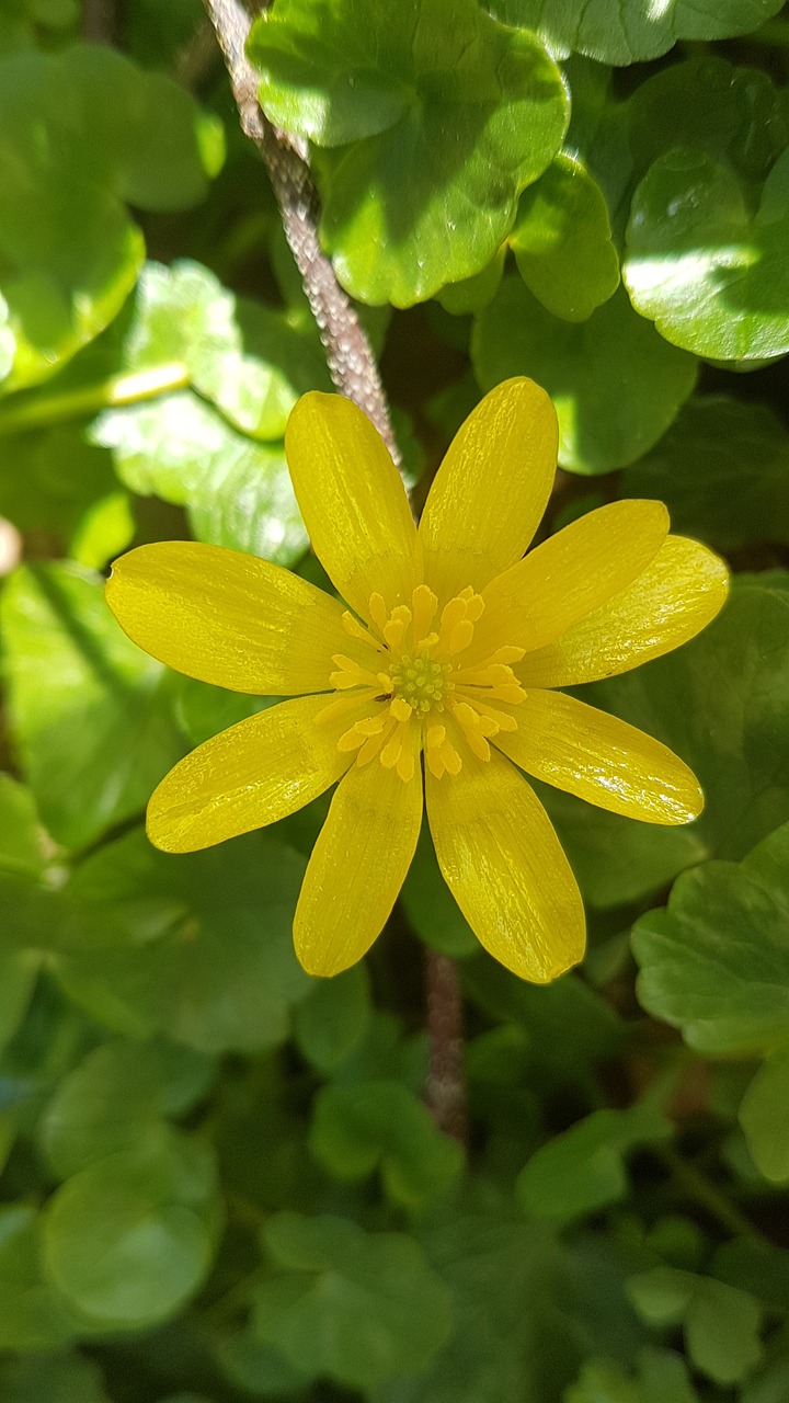
[[[668,536],[651,565],[556,643],[515,666],[525,687],[597,682],[660,658],[715,619],[729,593],[729,571],[706,546]]]

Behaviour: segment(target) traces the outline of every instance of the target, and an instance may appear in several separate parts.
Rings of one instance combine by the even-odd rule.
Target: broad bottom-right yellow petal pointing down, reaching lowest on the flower
[[[463,755],[456,776],[425,773],[438,864],[472,930],[521,979],[549,984],[584,954],[570,864],[536,794],[497,751]]]

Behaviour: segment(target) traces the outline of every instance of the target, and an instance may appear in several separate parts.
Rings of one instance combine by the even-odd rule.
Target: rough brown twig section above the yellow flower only
[[[241,130],[254,142],[268,170],[285,237],[326,348],[331,379],[372,419],[399,463],[400,455],[368,338],[334,276],[331,262],[320,248],[319,201],[306,149],[295,137],[277,130],[264,116],[257,100],[258,76],[246,55],[250,15],[240,0],[205,0],[205,7],[225,55]]]

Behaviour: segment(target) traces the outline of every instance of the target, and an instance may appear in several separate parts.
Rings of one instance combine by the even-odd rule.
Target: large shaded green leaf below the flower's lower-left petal
[[[58,978],[132,1037],[160,1031],[202,1052],[275,1047],[309,989],[291,933],[303,870],[268,836],[171,856],[132,832],[77,868],[76,933]],[[107,929],[104,947],[93,936],[79,948],[80,911]]]

